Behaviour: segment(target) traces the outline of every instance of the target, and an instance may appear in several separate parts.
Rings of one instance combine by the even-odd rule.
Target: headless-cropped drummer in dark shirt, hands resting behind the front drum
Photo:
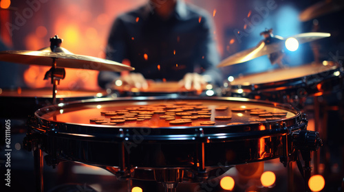
[[[182,0],[149,0],[146,5],[118,16],[107,42],[107,59],[129,60],[135,73],[102,71],[98,84],[114,88],[116,80],[147,88],[147,80],[179,81],[187,89],[222,83],[215,64],[219,54],[211,17]]]

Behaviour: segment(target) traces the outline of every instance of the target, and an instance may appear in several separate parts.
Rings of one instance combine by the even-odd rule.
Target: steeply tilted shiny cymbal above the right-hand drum
[[[278,36],[279,41],[276,43],[270,43],[270,44],[267,44],[265,40],[261,40],[256,47],[252,47],[250,49],[246,49],[244,51],[235,53],[232,56],[229,56],[228,58],[220,62],[217,65],[217,67],[225,67],[228,65],[239,64],[241,62],[246,62],[254,58],[258,58],[260,56],[264,56],[271,53],[275,53],[277,51],[281,51],[286,47],[285,43],[288,38],[296,38],[299,41],[299,44],[301,44],[301,43],[308,43],[310,41],[329,37],[329,36],[330,34],[328,33],[311,32],[311,33],[297,34],[294,36],[289,36],[287,38]]]

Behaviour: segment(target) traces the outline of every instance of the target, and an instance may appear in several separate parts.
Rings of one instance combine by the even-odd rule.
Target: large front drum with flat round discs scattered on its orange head
[[[286,137],[307,121],[266,101],[136,97],[47,106],[28,126],[26,141],[34,138],[50,164],[72,160],[141,180],[178,170],[179,182],[199,182],[233,165],[286,156]]]

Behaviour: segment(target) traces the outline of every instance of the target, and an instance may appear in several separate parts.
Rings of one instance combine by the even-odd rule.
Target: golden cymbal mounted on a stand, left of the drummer
[[[63,47],[56,47],[51,51],[50,47],[39,51],[0,51],[0,60],[21,64],[37,64],[52,67],[53,59],[56,60],[56,67],[90,69],[96,71],[133,71],[133,67],[126,64],[74,54]]]

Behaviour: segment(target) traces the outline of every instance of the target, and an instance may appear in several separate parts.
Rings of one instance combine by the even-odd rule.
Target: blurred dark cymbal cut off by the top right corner
[[[330,14],[332,12],[338,12],[343,9],[343,0],[321,1],[303,10],[303,12],[301,12],[301,14],[299,15],[299,19],[300,21],[310,21],[311,19],[316,19],[319,16]]]

